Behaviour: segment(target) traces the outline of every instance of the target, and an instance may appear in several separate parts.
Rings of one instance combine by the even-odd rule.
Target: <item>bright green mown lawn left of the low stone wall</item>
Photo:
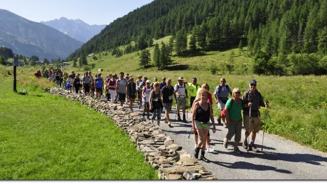
[[[22,75],[29,70],[18,70],[27,96],[12,92],[8,76],[0,81],[1,179],[157,179],[128,135],[106,116],[43,93],[37,85],[53,84]]]

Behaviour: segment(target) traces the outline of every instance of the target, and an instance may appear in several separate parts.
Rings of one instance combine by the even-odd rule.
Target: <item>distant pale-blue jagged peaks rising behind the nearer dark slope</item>
[[[65,17],[46,22],[41,21],[40,23],[55,28],[84,43],[106,27],[106,25],[89,25],[80,19],[73,20]]]

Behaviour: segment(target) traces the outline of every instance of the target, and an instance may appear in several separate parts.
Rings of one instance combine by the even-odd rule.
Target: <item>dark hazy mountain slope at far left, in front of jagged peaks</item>
[[[10,48],[15,54],[64,59],[82,44],[50,26],[0,9],[0,47]]]

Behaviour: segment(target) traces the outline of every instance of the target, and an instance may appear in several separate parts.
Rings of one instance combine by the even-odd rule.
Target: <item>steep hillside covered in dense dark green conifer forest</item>
[[[192,34],[192,43],[205,51],[235,48],[239,44],[248,46],[250,55],[264,52],[259,59],[264,58],[266,63],[272,57],[279,56],[274,62],[283,60],[281,56],[291,53],[325,55],[326,12],[325,0],[155,0],[112,22],[72,53],[69,60],[115,49],[131,41],[136,43],[132,51],[143,50],[151,45],[148,41],[152,38],[169,34],[177,43],[178,35]],[[290,67],[290,63],[284,66],[283,62],[278,63],[279,67]],[[256,73],[273,73],[270,71],[275,69],[275,63],[270,65],[273,66],[267,64]]]

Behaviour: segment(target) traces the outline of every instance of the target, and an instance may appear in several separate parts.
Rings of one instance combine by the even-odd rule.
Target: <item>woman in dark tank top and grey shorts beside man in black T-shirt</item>
[[[161,109],[163,108],[161,90],[160,90],[160,83],[154,83],[154,89],[151,91],[150,96],[150,109],[152,110],[152,122],[157,117],[157,124],[158,127],[160,120],[161,120]]]

